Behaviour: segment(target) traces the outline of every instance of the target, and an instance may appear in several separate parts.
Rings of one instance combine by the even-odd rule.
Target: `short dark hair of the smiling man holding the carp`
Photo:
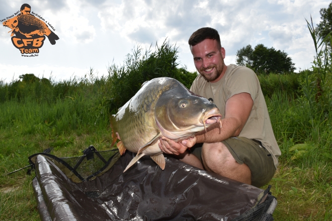
[[[218,31],[213,29],[213,28],[200,28],[196,32],[194,32],[190,38],[189,38],[189,45],[190,46],[195,46],[198,43],[201,43],[205,39],[212,39],[216,40],[218,43],[218,46],[221,48],[221,43],[220,43],[220,36],[218,34]]]

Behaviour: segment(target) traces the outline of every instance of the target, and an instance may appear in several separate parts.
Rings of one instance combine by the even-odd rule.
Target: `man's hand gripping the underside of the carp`
[[[196,137],[183,140],[179,143],[174,142],[167,137],[161,137],[159,148],[166,154],[180,155],[183,154],[188,148],[191,148],[196,144]]]

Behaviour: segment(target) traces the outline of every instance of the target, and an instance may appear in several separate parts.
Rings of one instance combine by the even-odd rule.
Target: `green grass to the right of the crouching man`
[[[285,92],[266,97],[282,156],[269,183],[278,199],[276,220],[332,220],[331,115],[310,109],[306,99]],[[290,151],[296,144],[303,150]]]

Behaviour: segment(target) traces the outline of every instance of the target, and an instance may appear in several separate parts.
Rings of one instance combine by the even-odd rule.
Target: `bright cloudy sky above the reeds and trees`
[[[152,49],[165,40],[179,47],[179,67],[195,71],[188,39],[202,27],[219,32],[226,64],[235,64],[237,50],[251,44],[286,52],[296,71],[308,69],[315,55],[305,19],[319,23],[321,8],[329,1],[312,0],[0,0],[0,20],[23,4],[44,18],[59,37],[46,38],[36,57],[22,57],[8,27],[0,29],[0,80],[11,82],[33,73],[55,80],[97,76],[107,67],[123,65],[137,46]]]

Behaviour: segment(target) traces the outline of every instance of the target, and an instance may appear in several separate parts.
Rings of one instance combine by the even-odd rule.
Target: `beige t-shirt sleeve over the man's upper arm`
[[[249,93],[255,101],[259,91],[259,80],[253,70],[250,68],[237,68],[225,82],[226,100],[238,93]]]

